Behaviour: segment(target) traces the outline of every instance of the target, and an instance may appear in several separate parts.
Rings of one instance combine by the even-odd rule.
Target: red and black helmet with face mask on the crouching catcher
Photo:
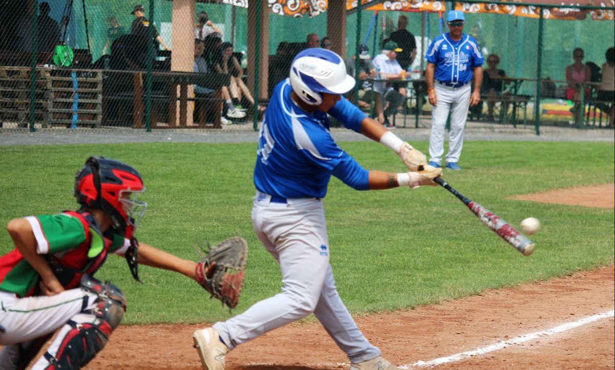
[[[119,160],[90,157],[75,175],[73,194],[82,207],[105,211],[117,232],[130,239],[147,207],[136,200],[144,191],[135,168]]]

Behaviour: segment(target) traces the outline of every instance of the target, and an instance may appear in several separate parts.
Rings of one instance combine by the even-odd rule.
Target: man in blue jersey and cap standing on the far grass
[[[427,48],[427,98],[432,105],[431,138],[429,139],[429,164],[459,171],[457,164],[463,146],[467,109],[480,101],[480,84],[483,81],[483,55],[476,40],[463,33],[466,18],[463,12],[451,10],[446,22],[449,33],[435,37]],[[472,73],[474,72],[474,92]],[[444,127],[448,113],[451,114],[451,131],[445,163]]]

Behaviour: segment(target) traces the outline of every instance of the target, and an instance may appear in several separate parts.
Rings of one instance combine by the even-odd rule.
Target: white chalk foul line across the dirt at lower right
[[[592,323],[593,321],[597,321],[597,320],[607,318],[607,317],[614,317],[614,316],[615,316],[615,310],[611,310],[609,312],[598,313],[598,315],[593,315],[593,316],[586,317],[578,321],[573,321],[571,323],[566,323],[560,326],[555,326],[555,328],[552,328],[549,330],[538,331],[536,333],[531,333],[531,334],[525,334],[524,336],[516,337],[513,339],[509,339],[509,340],[501,340],[500,342],[497,342],[495,344],[488,345],[487,347],[477,348],[473,351],[456,353],[455,355],[440,357],[440,358],[436,358],[435,360],[430,360],[430,361],[417,361],[416,363],[413,363],[410,365],[402,365],[399,367],[402,369],[410,369],[410,368],[416,368],[416,367],[422,367],[422,366],[436,366],[436,365],[440,365],[444,363],[460,361],[460,360],[469,358],[470,356],[484,355],[485,353],[501,350],[502,348],[508,347],[510,345],[528,342],[529,340],[534,340],[539,337],[552,336],[554,334],[561,333],[569,329],[577,328],[578,326]]]

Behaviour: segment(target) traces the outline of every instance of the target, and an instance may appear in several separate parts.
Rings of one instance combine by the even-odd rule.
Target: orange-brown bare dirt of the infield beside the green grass
[[[613,184],[532,194],[537,202],[613,207]],[[598,194],[598,195],[596,195]],[[610,203],[608,203],[610,202]],[[605,206],[606,205],[606,206]],[[416,310],[355,317],[392,363],[419,368],[431,361],[610,312],[614,266],[531,285],[487,291]],[[191,334],[202,325],[120,326],[88,369],[200,369]],[[612,314],[550,336],[448,361],[438,369],[613,369]],[[483,351],[485,352],[485,351]],[[274,330],[226,356],[228,369],[344,369],[347,358],[316,322]]]

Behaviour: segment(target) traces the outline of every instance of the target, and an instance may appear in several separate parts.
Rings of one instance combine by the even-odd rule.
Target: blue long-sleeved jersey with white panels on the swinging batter
[[[334,175],[367,190],[368,171],[335,143],[327,114],[304,111],[293,103],[291,92],[288,79],[279,82],[267,106],[254,168],[256,189],[284,198],[323,198]],[[367,117],[343,96],[328,114],[355,132]]]

